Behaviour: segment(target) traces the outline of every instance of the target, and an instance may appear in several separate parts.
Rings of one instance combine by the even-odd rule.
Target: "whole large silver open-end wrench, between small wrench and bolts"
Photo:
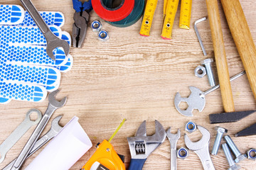
[[[209,142],[210,142],[210,132],[203,128],[202,126],[197,126],[198,130],[202,133],[202,138],[198,142],[191,142],[191,140],[188,138],[188,135],[184,135],[184,140],[186,147],[188,149],[191,149],[193,152],[195,152],[198,157],[200,158],[203,169],[205,170],[213,170],[215,169],[213,166],[213,162],[210,159],[210,153],[209,153]]]

